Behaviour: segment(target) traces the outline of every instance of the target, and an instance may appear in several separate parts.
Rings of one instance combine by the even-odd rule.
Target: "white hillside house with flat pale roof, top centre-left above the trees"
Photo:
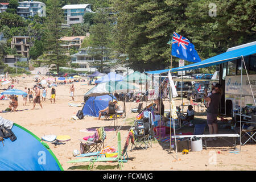
[[[64,23],[75,24],[84,22],[84,14],[86,12],[92,12],[92,5],[65,5],[62,7],[64,11]]]

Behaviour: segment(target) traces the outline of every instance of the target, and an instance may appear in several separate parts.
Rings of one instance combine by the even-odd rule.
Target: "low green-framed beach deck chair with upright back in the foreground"
[[[90,162],[88,166],[88,170],[93,168],[93,165],[95,162],[118,162],[119,168],[123,168],[123,159],[122,159],[122,149],[121,149],[121,134],[120,131],[117,134],[117,156],[112,157],[112,158],[107,158],[107,157],[102,157],[102,158],[82,158],[82,159],[76,159],[76,160],[70,160],[67,163],[79,163],[79,162]]]

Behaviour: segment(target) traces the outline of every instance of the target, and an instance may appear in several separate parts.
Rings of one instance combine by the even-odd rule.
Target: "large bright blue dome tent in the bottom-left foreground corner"
[[[14,123],[13,142],[6,138],[0,143],[0,171],[63,171],[59,161],[46,143],[41,143],[27,129]]]

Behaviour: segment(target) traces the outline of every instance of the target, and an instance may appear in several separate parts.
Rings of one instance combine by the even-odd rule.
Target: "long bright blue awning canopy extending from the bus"
[[[184,67],[173,68],[172,72],[210,67],[213,65],[222,64],[222,63],[226,63],[228,61],[239,59],[242,56],[253,55],[254,53],[256,53],[256,45],[243,47],[240,49],[235,49],[233,51],[221,53],[220,55],[210,57],[209,59],[203,60],[198,63],[185,65]],[[151,72],[146,72],[146,73],[160,74],[160,73],[167,73],[167,72],[169,72],[169,70],[170,69],[164,69],[164,70],[151,71]]]

